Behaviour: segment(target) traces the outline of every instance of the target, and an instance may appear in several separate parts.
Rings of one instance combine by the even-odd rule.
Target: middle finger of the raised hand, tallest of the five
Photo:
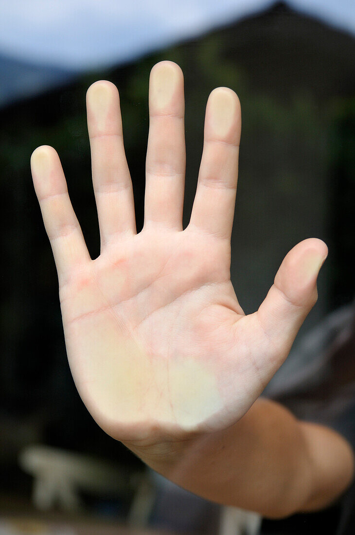
[[[144,225],[182,230],[185,165],[183,74],[179,65],[164,61],[149,80]]]

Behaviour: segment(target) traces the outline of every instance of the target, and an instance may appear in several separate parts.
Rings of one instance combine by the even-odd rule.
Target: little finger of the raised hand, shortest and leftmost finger
[[[90,261],[90,255],[70,202],[63,169],[55,149],[38,147],[31,156],[31,170],[59,282],[62,283],[74,266]]]

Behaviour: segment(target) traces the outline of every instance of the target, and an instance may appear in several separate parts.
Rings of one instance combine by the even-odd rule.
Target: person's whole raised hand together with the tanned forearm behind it
[[[31,158],[76,387],[102,429],[192,492],[268,516],[324,507],[350,483],[350,445],[259,396],[317,301],[327,246],[310,238],[292,248],[259,309],[246,316],[230,281],[238,97],[225,87],[209,96],[196,196],[184,229],[183,74],[173,62],[152,68],[149,113],[144,226],[137,233],[118,90],[102,80],[87,91],[98,258],[89,256],[56,151],[42,146]],[[280,422],[277,432],[272,421]],[[221,441],[223,454],[216,446]],[[325,444],[326,457],[314,453]],[[272,460],[281,479],[275,480]],[[223,463],[233,479],[228,495]],[[243,489],[245,478],[251,484]],[[297,495],[285,492],[287,478],[294,478]]]

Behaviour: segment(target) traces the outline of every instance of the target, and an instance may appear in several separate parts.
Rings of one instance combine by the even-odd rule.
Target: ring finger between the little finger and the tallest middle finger
[[[117,87],[101,80],[87,91],[88,131],[101,247],[135,233],[133,187],[127,165]]]

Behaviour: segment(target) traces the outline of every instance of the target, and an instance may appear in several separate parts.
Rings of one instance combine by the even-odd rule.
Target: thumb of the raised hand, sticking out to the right
[[[278,366],[289,354],[300,326],[317,302],[317,277],[327,255],[328,248],[322,240],[308,238],[297,243],[283,259],[257,311],[275,357],[281,360]]]

